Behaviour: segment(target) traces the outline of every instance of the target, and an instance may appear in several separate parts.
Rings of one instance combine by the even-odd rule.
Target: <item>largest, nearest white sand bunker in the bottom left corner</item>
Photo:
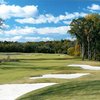
[[[0,100],[15,100],[23,94],[54,84],[56,83],[0,85]]]

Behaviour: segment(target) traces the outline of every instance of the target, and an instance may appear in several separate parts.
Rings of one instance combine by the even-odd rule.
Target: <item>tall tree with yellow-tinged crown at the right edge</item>
[[[91,48],[88,46],[88,48],[90,48],[91,51],[89,51],[88,49],[88,53],[90,53],[90,56],[93,52],[93,57],[96,60],[96,53],[97,53],[97,43],[100,41],[100,15],[99,14],[89,14],[85,17],[88,21],[92,22],[92,25],[90,27],[90,33],[88,32],[88,34],[90,34],[90,43],[91,44]],[[89,23],[90,23],[89,22]],[[89,42],[89,41],[88,41]],[[92,51],[93,50],[93,51]],[[88,54],[89,56],[89,54]],[[91,58],[89,56],[89,59]]]

